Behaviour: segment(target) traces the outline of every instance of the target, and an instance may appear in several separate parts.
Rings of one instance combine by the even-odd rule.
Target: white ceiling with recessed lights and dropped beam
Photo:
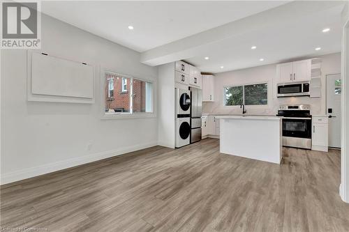
[[[184,59],[202,72],[224,72],[341,49],[343,2],[43,1],[41,9],[141,52],[149,65]]]

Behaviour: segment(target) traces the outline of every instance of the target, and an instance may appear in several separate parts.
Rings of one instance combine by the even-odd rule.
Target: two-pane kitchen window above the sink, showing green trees
[[[268,84],[248,84],[224,88],[225,106],[234,105],[267,105]]]

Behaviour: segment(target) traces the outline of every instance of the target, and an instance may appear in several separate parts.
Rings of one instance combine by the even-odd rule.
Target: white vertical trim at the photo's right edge
[[[343,201],[346,201],[347,203],[349,203],[349,197],[348,197],[348,186],[347,186],[347,178],[348,178],[348,172],[349,170],[347,170],[348,167],[346,167],[346,158],[347,155],[346,154],[346,118],[347,118],[347,114],[346,111],[349,109],[346,109],[346,81],[348,80],[349,77],[349,73],[348,72],[348,67],[346,67],[347,65],[347,56],[349,54],[347,54],[347,49],[349,49],[348,45],[347,45],[347,36],[346,33],[347,31],[349,32],[349,19],[346,20],[346,23],[343,25],[343,44],[342,44],[342,63],[341,63],[341,80],[342,80],[342,98],[341,98],[341,113],[342,113],[342,130],[341,130],[341,185],[339,187],[339,194],[341,195],[341,199]],[[348,144],[349,145],[349,144]]]

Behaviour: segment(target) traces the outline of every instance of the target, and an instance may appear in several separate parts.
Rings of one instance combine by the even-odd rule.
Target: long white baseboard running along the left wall
[[[69,160],[62,160],[59,162],[54,162],[50,164],[40,165],[38,167],[31,167],[28,169],[23,169],[20,171],[13,171],[10,173],[1,174],[1,183],[0,185],[5,185],[8,183],[13,183],[18,180],[24,180],[27,178],[31,178],[34,176],[40,176],[43,174],[47,174],[53,171],[59,171],[62,169],[68,169],[70,167],[75,167],[81,164],[87,164],[89,162],[94,162],[97,160],[103,160],[105,158],[122,155],[124,153],[130,153],[135,150],[142,150],[144,148],[150,148],[151,146],[156,146],[157,142],[150,142],[145,144],[138,144],[135,146],[128,146],[124,148],[120,148],[118,150],[107,150],[101,153],[94,153],[91,155],[84,155],[80,157],[75,157]]]

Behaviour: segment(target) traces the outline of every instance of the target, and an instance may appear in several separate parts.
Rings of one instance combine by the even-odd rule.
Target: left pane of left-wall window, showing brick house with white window
[[[105,112],[130,112],[130,95],[128,93],[130,78],[119,77],[110,73],[107,73],[105,77],[107,81],[105,86]],[[126,85],[122,87],[121,82],[126,82]],[[126,88],[126,91],[122,91],[123,88]]]

